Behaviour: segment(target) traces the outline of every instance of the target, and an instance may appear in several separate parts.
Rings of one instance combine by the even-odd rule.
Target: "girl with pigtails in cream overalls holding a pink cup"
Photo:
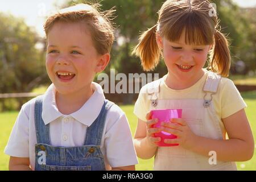
[[[160,55],[168,69],[166,76],[143,86],[134,107],[138,117],[135,150],[142,159],[155,156],[155,170],[237,170],[234,161],[253,156],[246,104],[226,78],[228,41],[217,29],[211,7],[202,0],[164,2],[158,23],[141,35],[133,51],[144,70],[154,69]],[[148,111],[154,109],[183,109],[182,119],[152,128],[157,119],[150,119]],[[164,143],[179,146],[156,146],[161,138],[153,134],[159,131],[176,135]],[[217,161],[212,163],[210,157]]]

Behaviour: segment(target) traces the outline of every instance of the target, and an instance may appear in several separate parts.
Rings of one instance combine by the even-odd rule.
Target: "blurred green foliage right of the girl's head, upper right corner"
[[[231,0],[214,0],[222,32],[228,35],[232,64],[245,62],[247,71],[256,70],[256,8],[243,9]],[[233,71],[233,70],[232,70]]]

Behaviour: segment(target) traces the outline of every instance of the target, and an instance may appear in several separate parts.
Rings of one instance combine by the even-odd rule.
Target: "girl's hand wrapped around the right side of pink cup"
[[[175,139],[164,139],[164,143],[179,143],[180,146],[186,149],[191,149],[195,146],[196,137],[184,119],[174,118],[171,122],[162,122],[162,131],[177,136]]]

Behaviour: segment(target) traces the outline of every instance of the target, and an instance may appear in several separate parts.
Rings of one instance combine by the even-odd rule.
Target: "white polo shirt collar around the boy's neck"
[[[105,100],[101,85],[97,84],[96,82],[92,82],[92,85],[95,90],[92,96],[90,96],[89,100],[87,100],[79,110],[68,115],[86,126],[92,125],[92,123],[98,117]],[[55,95],[56,88],[53,84],[51,84],[43,97],[42,118],[45,125],[59,117],[67,117],[67,115],[60,113],[59,109],[57,108]]]

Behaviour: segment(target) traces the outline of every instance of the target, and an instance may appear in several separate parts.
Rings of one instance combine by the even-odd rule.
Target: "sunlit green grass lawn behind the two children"
[[[249,118],[251,128],[254,134],[254,140],[256,141],[256,115],[255,115],[255,108],[256,108],[256,92],[246,92],[242,93],[243,98],[247,104],[246,114]],[[121,106],[121,108],[125,111],[127,118],[130,122],[131,132],[135,133],[136,125],[137,125],[137,118],[133,114],[133,105]],[[3,154],[3,150],[6,146],[6,143],[9,139],[9,135],[15,119],[18,115],[18,111],[11,111],[6,113],[0,113],[0,170],[7,170],[8,169],[8,162],[9,156]],[[255,152],[254,152],[255,154]],[[137,170],[152,170],[154,159],[150,160],[142,160],[139,159],[139,164],[136,166]],[[247,162],[237,162],[238,170],[256,170],[256,156],[254,155],[253,158]]]

